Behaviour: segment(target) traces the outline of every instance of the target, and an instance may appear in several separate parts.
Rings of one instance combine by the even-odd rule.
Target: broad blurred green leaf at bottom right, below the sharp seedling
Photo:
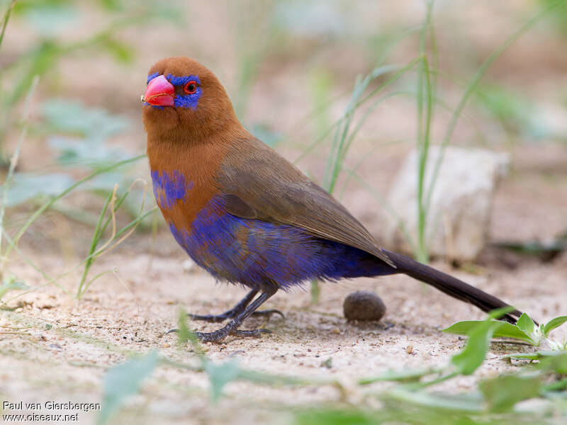
[[[541,378],[539,376],[500,375],[481,382],[478,387],[490,411],[505,412],[517,402],[537,397],[541,389]]]

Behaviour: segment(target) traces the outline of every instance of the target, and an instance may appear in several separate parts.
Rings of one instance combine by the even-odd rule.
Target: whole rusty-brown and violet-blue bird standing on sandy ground
[[[405,273],[458,300],[515,323],[522,312],[462,280],[383,249],[330,193],[237,119],[215,74],[189,57],[155,63],[142,96],[153,192],[174,239],[215,279],[249,292],[222,314],[189,314],[225,322],[201,341],[228,335],[261,336],[239,329],[279,290],[313,279],[336,281]],[[283,315],[283,314],[282,314]]]

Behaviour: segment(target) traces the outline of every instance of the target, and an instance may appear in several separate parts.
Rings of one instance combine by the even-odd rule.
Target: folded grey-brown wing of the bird
[[[218,176],[231,214],[301,227],[393,266],[368,230],[329,193],[259,140],[243,145],[230,149]]]

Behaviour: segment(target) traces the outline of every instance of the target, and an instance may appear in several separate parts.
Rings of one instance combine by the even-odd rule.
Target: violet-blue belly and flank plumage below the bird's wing
[[[236,217],[216,196],[198,212],[190,229],[169,228],[199,266],[215,278],[261,288],[288,289],[306,280],[338,280],[393,273],[386,263],[352,246],[314,237],[291,225]]]

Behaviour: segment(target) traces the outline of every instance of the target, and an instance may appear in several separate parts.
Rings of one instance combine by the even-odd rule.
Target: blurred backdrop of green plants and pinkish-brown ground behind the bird
[[[534,172],[506,201],[516,218],[495,217],[494,238],[567,226],[566,1],[0,0],[0,13],[6,290],[35,286],[12,276],[16,257],[56,282],[43,271],[48,249],[81,259],[80,297],[100,276],[87,278],[101,240],[135,229],[123,242],[134,255],[166,232],[138,182],[149,181],[140,94],[150,66],[174,55],[212,69],[242,123],[378,240],[401,160],[442,143],[509,152]],[[427,261],[425,232],[408,238]]]

